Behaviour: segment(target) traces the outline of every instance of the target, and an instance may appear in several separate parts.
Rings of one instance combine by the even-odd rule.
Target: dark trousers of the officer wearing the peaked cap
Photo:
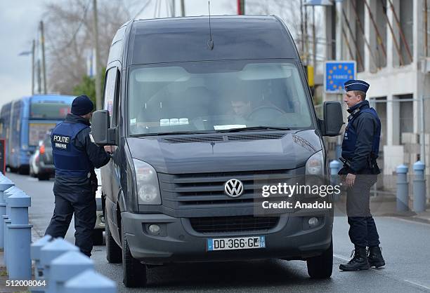
[[[354,185],[347,191],[348,234],[359,247],[379,245],[377,227],[370,213],[370,188],[376,182],[377,175],[356,175]]]

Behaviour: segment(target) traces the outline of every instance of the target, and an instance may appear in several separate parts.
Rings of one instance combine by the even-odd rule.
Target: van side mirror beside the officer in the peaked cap
[[[324,102],[324,121],[320,121],[321,131],[325,136],[337,136],[344,125],[342,106],[340,102]]]

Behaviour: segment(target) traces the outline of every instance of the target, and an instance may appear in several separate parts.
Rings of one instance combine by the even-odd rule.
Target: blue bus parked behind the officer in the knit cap
[[[69,95],[33,95],[1,107],[0,138],[6,140],[6,167],[28,172],[39,140],[70,113],[73,99]]]

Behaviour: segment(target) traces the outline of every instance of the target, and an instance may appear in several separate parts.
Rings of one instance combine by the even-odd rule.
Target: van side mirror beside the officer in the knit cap
[[[91,135],[99,146],[117,145],[115,142],[115,128],[110,127],[109,111],[99,110],[91,118]]]

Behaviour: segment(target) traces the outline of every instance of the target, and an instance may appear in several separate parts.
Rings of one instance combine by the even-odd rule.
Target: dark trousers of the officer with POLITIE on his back
[[[64,238],[74,214],[74,244],[88,257],[93,249],[93,229],[96,225],[96,197],[90,190],[56,192],[56,206],[45,235]]]

